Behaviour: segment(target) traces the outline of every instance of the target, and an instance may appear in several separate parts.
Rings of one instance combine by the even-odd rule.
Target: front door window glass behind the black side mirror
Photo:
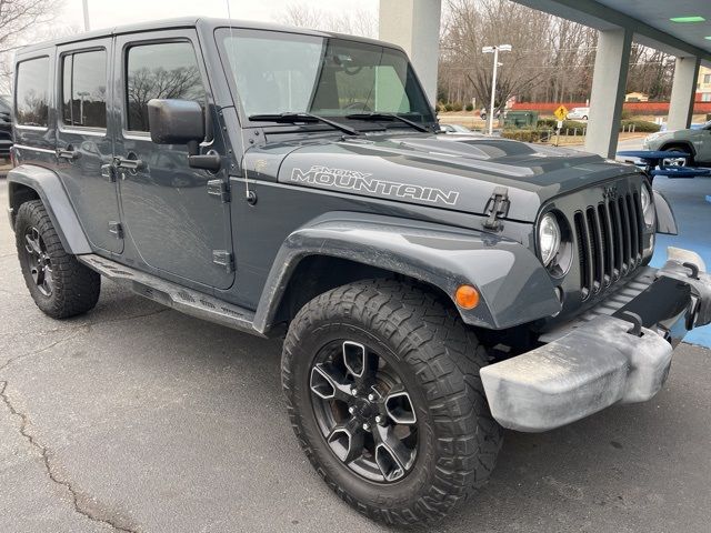
[[[190,42],[131,47],[126,67],[126,109],[130,131],[149,131],[148,102],[153,98],[196,100],[206,92]]]

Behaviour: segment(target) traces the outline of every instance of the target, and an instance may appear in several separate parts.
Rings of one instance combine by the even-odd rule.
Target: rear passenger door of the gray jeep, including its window
[[[89,242],[121,253],[117,184],[111,173],[111,39],[74,43],[57,56],[57,171]]]

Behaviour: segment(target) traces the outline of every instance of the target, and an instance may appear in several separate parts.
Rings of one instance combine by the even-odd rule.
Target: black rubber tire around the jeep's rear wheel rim
[[[32,279],[26,251],[26,232],[36,228],[46,248],[52,270],[52,291],[43,294]],[[93,309],[99,300],[101,276],[64,251],[40,200],[23,203],[14,222],[16,243],[22,275],[38,308],[53,319],[67,319]]]

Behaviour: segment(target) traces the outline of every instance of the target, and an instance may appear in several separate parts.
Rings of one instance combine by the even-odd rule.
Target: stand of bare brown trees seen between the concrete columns
[[[495,102],[583,102],[590,98],[598,32],[509,0],[448,0],[440,46],[439,99],[464,102],[491,98],[492,57],[481,48],[512,44],[499,56]],[[632,48],[628,90],[664,99],[673,64],[663,52]]]

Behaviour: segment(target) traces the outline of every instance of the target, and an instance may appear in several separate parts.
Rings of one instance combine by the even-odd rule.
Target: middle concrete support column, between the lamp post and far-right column
[[[631,47],[630,30],[604,30],[598,36],[585,150],[603,158],[614,158],[618,147]]]

